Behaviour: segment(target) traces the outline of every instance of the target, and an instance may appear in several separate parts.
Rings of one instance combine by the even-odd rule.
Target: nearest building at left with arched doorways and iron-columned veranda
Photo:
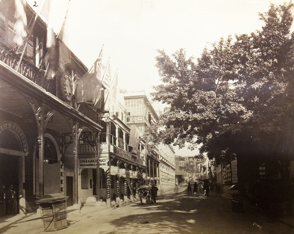
[[[87,67],[59,40],[63,53],[47,66],[47,25],[28,5],[32,24],[16,44],[15,10],[14,1],[0,2],[0,184],[14,186],[17,213],[35,211],[45,194],[80,204],[86,190],[93,196],[99,188],[98,174],[79,168],[81,150],[87,144],[98,158],[102,130],[99,113],[86,104],[77,110],[73,97],[73,80]]]

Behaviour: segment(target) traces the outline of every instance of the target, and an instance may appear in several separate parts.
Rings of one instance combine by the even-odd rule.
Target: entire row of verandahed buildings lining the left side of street
[[[117,106],[104,85],[98,104],[78,96],[90,70],[58,37],[47,48],[46,22],[24,10],[31,24],[17,44],[16,6],[0,1],[0,185],[14,186],[17,213],[35,212],[46,194],[68,196],[68,206],[111,205],[151,181],[169,188],[172,148],[160,154],[140,133],[158,118],[147,97]]]

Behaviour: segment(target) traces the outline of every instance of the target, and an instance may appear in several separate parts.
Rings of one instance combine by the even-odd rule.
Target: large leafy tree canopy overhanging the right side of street
[[[261,30],[221,38],[199,59],[159,50],[162,84],[153,99],[168,104],[157,140],[200,146],[217,163],[250,154],[294,152],[293,4],[270,5]],[[149,131],[158,131],[152,126]]]

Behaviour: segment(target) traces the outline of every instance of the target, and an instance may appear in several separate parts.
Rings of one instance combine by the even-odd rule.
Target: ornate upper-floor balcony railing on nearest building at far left
[[[0,61],[16,70],[20,61],[20,56],[0,43]],[[53,80],[45,79],[45,71],[39,70],[33,64],[25,61],[25,59],[22,60],[18,72],[46,91],[52,94],[56,93],[55,83]]]

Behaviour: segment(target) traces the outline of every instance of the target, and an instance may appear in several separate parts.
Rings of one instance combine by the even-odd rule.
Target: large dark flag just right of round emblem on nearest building
[[[97,105],[101,103],[101,72],[102,72],[102,49],[99,57],[86,74],[75,82],[76,103],[91,103],[95,108],[100,109]]]

